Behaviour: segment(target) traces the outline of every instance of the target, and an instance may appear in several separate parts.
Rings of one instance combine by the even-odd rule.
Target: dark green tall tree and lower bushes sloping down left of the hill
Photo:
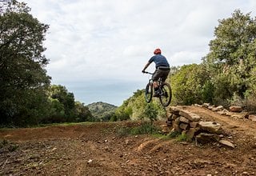
[[[65,86],[50,86],[42,54],[48,28],[25,3],[12,0],[0,12],[0,126],[94,121]]]

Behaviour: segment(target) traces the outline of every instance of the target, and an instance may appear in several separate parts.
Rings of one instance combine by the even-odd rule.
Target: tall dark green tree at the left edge
[[[0,14],[0,124],[38,122],[47,111],[48,60],[42,52],[49,26],[12,0]]]

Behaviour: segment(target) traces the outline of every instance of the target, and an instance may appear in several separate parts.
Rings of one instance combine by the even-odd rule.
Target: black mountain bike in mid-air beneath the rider
[[[144,72],[145,74],[152,74],[150,72]],[[169,106],[170,101],[171,101],[171,87],[170,84],[167,82],[163,82],[162,78],[158,79],[158,86],[159,86],[159,100],[162,106],[166,107]],[[145,99],[146,102],[151,102],[152,97],[153,97],[153,92],[154,92],[154,87],[153,87],[153,80],[150,78],[149,82],[146,85],[146,90],[145,90]]]

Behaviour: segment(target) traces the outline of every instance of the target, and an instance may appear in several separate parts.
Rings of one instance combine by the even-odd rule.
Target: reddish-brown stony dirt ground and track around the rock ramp
[[[256,122],[183,108],[222,124],[235,147],[117,133],[140,122],[2,129],[0,175],[256,175]]]

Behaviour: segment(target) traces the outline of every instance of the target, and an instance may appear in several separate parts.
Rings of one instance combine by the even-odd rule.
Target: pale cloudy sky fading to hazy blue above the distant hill
[[[21,1],[19,1],[21,2]],[[150,76],[155,48],[182,66],[202,62],[218,20],[234,10],[256,16],[254,0],[23,0],[50,25],[44,46],[51,83],[85,103],[121,106]],[[152,63],[148,71],[154,71]]]

